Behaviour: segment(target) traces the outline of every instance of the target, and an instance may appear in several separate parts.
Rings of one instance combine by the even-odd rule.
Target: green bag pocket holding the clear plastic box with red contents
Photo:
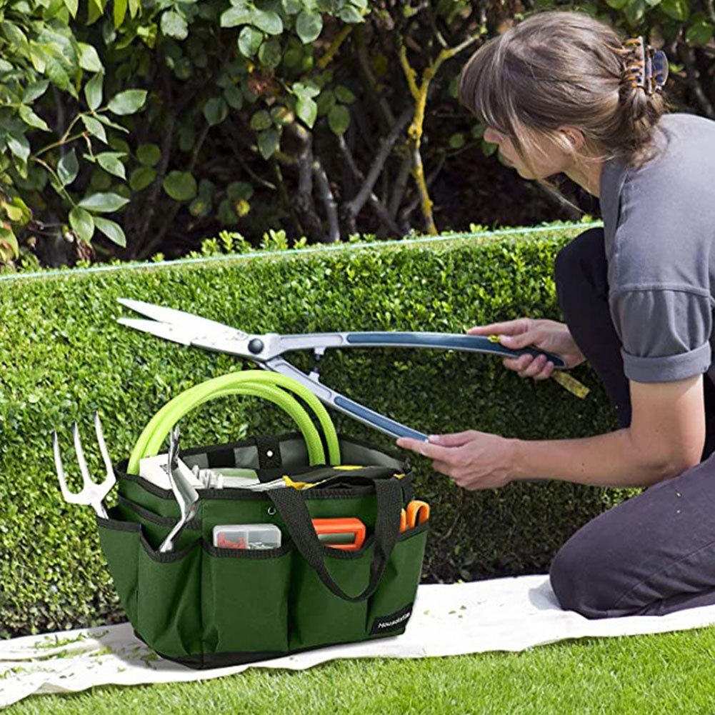
[[[204,541],[204,648],[212,653],[288,649],[288,596],[295,547],[217,548]]]

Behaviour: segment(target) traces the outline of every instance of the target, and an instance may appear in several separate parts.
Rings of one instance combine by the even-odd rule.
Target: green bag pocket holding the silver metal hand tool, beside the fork
[[[139,598],[134,628],[169,658],[202,652],[201,540],[182,551],[158,553],[139,537]]]

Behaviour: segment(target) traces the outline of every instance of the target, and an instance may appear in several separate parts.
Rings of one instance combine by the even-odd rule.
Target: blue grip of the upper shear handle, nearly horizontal
[[[518,358],[528,352],[534,358],[546,355],[555,368],[565,368],[563,358],[551,352],[542,352],[533,347],[511,350],[483,335],[451,335],[439,332],[349,332],[345,339],[351,345],[393,345],[395,347],[443,347],[448,350],[473,350],[491,352],[504,358]]]

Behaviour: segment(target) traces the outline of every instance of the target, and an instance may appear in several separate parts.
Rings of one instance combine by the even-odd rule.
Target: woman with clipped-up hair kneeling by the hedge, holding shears
[[[715,603],[715,122],[666,114],[667,64],[652,52],[587,14],[548,11],[480,47],[460,77],[460,102],[503,159],[525,179],[571,177],[598,197],[604,224],[556,257],[566,324],[525,317],[468,332],[554,352],[568,368],[588,360],[621,429],[397,441],[468,489],[527,478],[648,487],[583,526],[551,564],[561,606],[588,618]],[[543,356],[504,365],[534,380],[553,371]]]

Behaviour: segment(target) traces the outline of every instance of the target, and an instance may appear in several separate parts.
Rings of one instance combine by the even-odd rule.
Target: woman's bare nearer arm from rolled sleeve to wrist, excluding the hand
[[[705,443],[703,379],[631,380],[631,425],[616,432],[573,440],[513,440],[512,478],[641,487],[683,473],[699,463]]]

